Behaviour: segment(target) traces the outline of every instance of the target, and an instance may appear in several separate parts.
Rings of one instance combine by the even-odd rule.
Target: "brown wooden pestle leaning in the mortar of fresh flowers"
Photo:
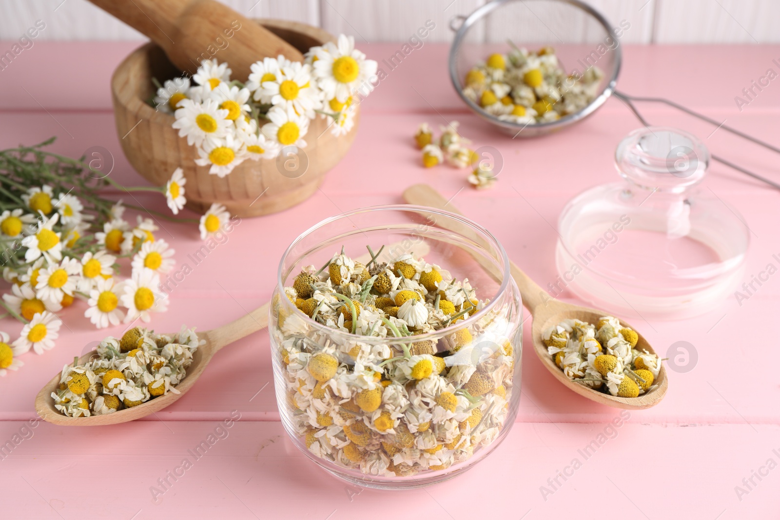
[[[252,63],[268,56],[303,61],[298,49],[215,0],[90,2],[150,37],[174,65],[190,74],[208,58],[228,62],[232,78],[241,81],[246,81]]]

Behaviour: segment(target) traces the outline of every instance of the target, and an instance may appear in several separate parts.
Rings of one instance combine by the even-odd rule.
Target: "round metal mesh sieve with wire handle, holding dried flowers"
[[[612,26],[601,13],[580,0],[492,0],[475,9],[469,16],[454,16],[449,27],[456,33],[449,52],[452,85],[475,114],[509,133],[512,138],[544,136],[582,121],[615,94],[644,126],[648,126],[648,123],[634,102],[663,103],[780,154],[780,148],[674,101],[661,97],[634,97],[617,90],[622,60],[620,37],[630,26],[624,23]],[[588,67],[596,66],[603,73],[597,88],[598,94],[580,111],[563,115],[551,122],[519,124],[489,114],[463,94],[463,80],[466,73],[478,62],[484,62],[488,55],[495,52],[505,54],[510,45],[531,51],[548,46],[554,48],[559,65],[569,74],[583,73]],[[714,161],[780,189],[777,182],[750,172],[716,154],[711,157]]]

